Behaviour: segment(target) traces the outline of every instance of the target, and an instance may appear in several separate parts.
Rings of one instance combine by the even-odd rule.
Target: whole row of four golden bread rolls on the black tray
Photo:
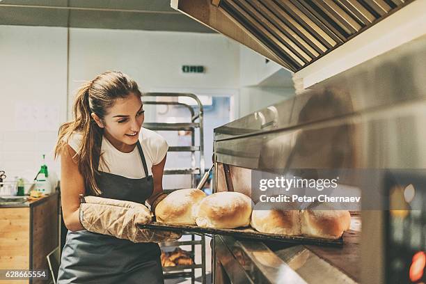
[[[248,196],[234,191],[210,196],[199,189],[173,191],[157,205],[160,223],[196,225],[203,228],[251,226],[258,232],[338,239],[349,229],[351,216],[345,210],[299,210],[292,203],[262,208]]]

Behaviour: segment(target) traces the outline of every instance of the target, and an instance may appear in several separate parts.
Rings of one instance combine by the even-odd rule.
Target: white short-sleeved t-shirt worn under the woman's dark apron
[[[82,138],[83,135],[81,133],[74,132],[71,135],[68,144],[75,152],[79,152]],[[143,154],[145,155],[148,175],[152,175],[152,166],[159,164],[164,159],[168,150],[168,144],[163,136],[145,128],[141,128],[141,132],[139,132],[139,141],[141,142]],[[125,178],[145,178],[145,172],[143,171],[143,164],[137,146],[132,152],[120,152],[114,148],[105,136],[103,136],[101,153],[104,153],[104,161],[108,164],[109,168],[100,163],[98,167],[99,171],[121,175]]]

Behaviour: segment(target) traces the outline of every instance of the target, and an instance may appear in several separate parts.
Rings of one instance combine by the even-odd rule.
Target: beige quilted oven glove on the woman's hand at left
[[[81,196],[79,218],[81,225],[90,232],[134,243],[174,241],[182,236],[167,230],[137,228],[137,224],[150,223],[152,217],[145,205],[132,201]]]

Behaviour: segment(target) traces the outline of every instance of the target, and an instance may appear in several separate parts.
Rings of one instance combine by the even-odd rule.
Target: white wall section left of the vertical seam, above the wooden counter
[[[0,170],[32,180],[65,121],[67,30],[0,26]]]

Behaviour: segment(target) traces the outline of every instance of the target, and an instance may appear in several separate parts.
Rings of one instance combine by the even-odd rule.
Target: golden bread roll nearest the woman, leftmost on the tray
[[[157,221],[179,225],[195,225],[196,212],[206,194],[200,189],[180,189],[168,194],[155,208]]]

